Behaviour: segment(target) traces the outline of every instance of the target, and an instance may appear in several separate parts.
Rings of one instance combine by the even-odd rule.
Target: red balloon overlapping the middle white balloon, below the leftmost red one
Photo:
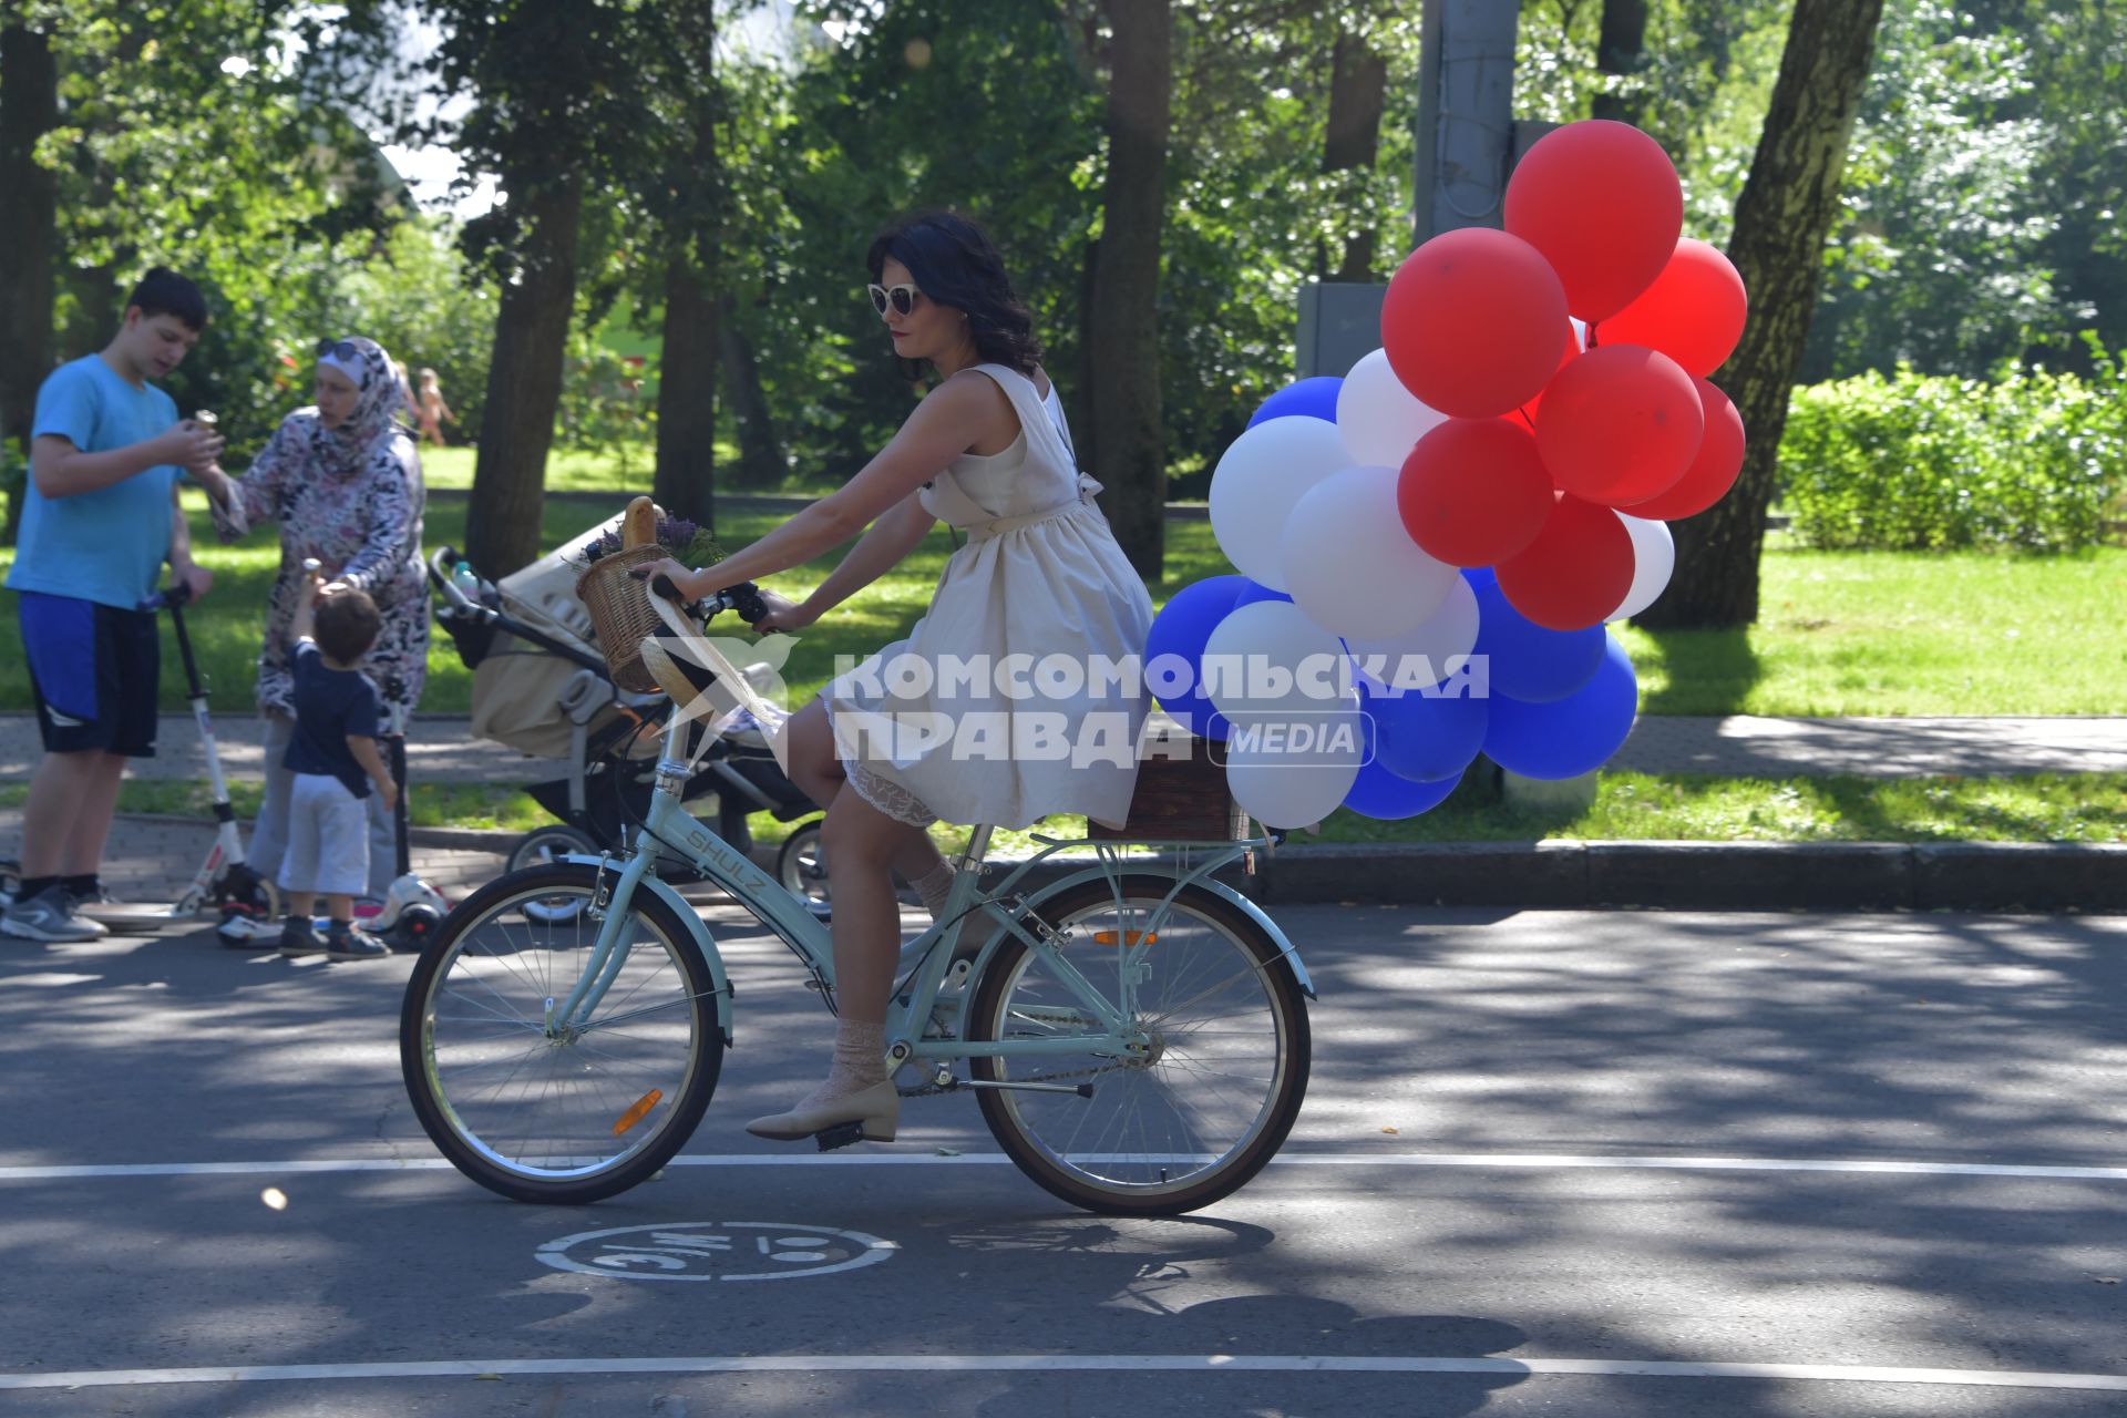
[[[1448,565],[1506,561],[1544,529],[1551,504],[1551,474],[1536,438],[1506,419],[1436,425],[1395,480],[1404,531]]]

